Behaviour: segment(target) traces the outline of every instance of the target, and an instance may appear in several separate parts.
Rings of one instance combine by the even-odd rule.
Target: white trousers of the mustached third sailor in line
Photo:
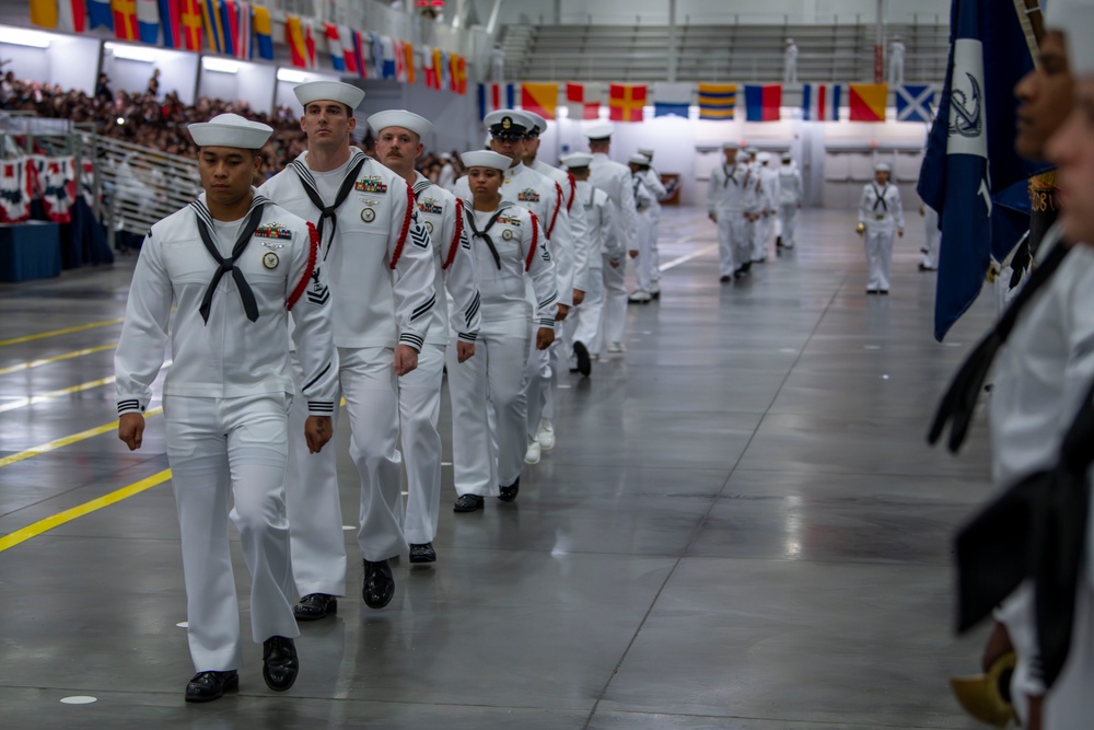
[[[475,356],[478,357],[478,356]],[[407,543],[422,545],[437,536],[441,508],[441,382],[444,346],[427,343],[418,367],[399,378],[399,440],[407,471]]]

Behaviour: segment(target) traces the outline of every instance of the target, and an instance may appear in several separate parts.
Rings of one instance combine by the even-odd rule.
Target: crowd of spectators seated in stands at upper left
[[[102,73],[95,93],[89,96],[83,91],[61,89],[59,84],[16,79],[14,73],[8,71],[0,80],[0,108],[31,112],[40,117],[67,118],[78,124],[90,123],[100,135],[183,157],[194,157],[197,152],[194,140],[184,131],[186,125],[207,121],[218,114],[238,114],[274,128],[274,135],[261,151],[263,162],[256,183],[271,177],[304,151],[304,132],[289,107],[265,114],[255,112],[244,102],[203,96],[196,104],[187,105],[176,92],[160,93],[159,76],[159,71],[153,72],[143,92],[115,92],[110,90],[109,78]],[[364,127],[359,123],[358,130]],[[371,134],[365,134],[359,146],[365,153],[372,154]],[[419,160],[418,167],[431,181],[442,185],[463,174],[459,157],[455,152],[427,153]],[[450,175],[451,181],[446,179]]]

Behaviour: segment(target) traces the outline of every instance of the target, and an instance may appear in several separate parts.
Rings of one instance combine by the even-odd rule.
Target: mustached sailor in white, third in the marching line
[[[433,250],[437,303],[418,367],[399,379],[399,426],[403,463],[407,472],[407,511],[403,532],[410,563],[433,563],[441,505],[441,384],[450,331],[456,333],[456,362],[475,355],[479,329],[479,291],[475,277],[463,206],[454,195],[415,170],[421,138],[433,130],[426,118],[405,109],[369,117],[376,135],[376,158],[414,187],[418,216],[429,231]],[[453,302],[450,314],[449,301]],[[453,422],[453,429],[459,428]]]

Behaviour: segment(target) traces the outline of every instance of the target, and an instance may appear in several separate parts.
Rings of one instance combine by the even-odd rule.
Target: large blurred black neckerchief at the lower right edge
[[[1086,473],[1094,463],[1092,440],[1094,386],[1063,437],[1057,464],[1011,486],[956,538],[958,630],[971,628],[1032,579],[1046,690],[1067,662],[1078,582],[1089,569]]]

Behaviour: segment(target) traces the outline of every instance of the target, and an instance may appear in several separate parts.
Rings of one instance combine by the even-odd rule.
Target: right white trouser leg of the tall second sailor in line
[[[365,560],[386,560],[406,549],[395,350],[339,347],[338,362],[349,416],[349,455],[361,478],[357,542]]]

